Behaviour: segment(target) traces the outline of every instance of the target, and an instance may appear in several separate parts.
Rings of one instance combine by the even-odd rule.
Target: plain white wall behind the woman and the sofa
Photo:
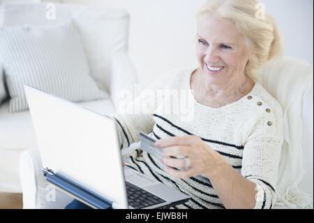
[[[63,0],[111,3],[131,15],[130,57],[140,82],[147,84],[172,68],[196,66],[195,12],[206,0]],[[261,0],[278,21],[285,55],[313,64],[313,1]]]

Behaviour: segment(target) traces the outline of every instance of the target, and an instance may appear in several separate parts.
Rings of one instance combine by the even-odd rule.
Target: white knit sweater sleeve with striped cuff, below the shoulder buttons
[[[254,208],[272,208],[283,144],[281,108],[272,108],[255,122],[244,145],[241,175],[256,185]]]

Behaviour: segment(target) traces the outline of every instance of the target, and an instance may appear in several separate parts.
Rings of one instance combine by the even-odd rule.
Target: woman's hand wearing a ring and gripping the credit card
[[[166,165],[164,171],[174,178],[190,178],[205,174],[209,178],[218,173],[221,164],[227,161],[218,152],[211,149],[197,136],[177,136],[158,140],[155,145],[163,148],[161,161]],[[186,157],[177,159],[172,157]],[[186,165],[189,163],[188,168]],[[174,168],[181,168],[176,170]]]

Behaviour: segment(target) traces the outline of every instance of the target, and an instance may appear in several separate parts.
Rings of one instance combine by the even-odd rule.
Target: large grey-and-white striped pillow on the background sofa
[[[89,75],[80,34],[72,22],[0,28],[0,62],[10,95],[10,112],[28,108],[23,85],[70,101],[105,99]]]

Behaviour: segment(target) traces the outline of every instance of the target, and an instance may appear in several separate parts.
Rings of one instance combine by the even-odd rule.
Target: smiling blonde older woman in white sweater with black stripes
[[[254,71],[281,52],[281,38],[269,15],[256,16],[257,3],[209,1],[197,16],[198,68],[172,71],[152,85],[186,89],[193,118],[174,112],[185,103],[181,97],[167,113],[165,101],[146,98],[140,101],[148,113],[114,115],[121,148],[139,141],[140,131],[158,140],[161,159],[138,149],[126,165],[190,196],[174,208],[274,205],[282,110]]]

